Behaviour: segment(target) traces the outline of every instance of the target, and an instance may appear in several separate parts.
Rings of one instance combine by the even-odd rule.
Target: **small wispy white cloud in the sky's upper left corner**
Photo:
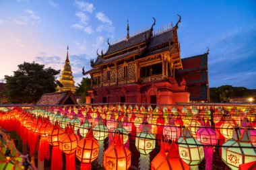
[[[38,15],[34,13],[31,9],[26,9],[24,12],[27,14],[25,16],[20,16],[18,19],[15,19],[15,23],[19,25],[27,25],[27,24],[34,24],[40,23],[41,19]]]

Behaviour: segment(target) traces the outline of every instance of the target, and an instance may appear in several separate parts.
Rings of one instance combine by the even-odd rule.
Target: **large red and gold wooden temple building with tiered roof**
[[[153,18],[154,19],[154,18]],[[177,103],[208,101],[207,53],[181,59],[178,25],[153,34],[129,35],[91,60],[92,89],[86,103]]]

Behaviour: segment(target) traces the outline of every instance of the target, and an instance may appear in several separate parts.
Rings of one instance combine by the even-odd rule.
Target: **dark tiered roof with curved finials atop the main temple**
[[[180,22],[181,20],[179,20]],[[156,20],[154,19],[154,24],[149,30],[136,34],[135,36],[129,37],[129,25],[127,25],[127,38],[126,40],[122,40],[121,42],[117,42],[115,44],[109,44],[108,42],[108,50],[103,54],[98,54],[96,61],[91,60],[91,66],[93,68],[100,67],[102,65],[106,65],[110,62],[122,60],[125,58],[130,58],[136,56],[136,58],[143,58],[146,56],[158,54],[160,52],[174,52],[177,53],[176,63],[174,63],[176,69],[182,69],[181,59],[179,55],[179,42],[177,39],[177,29],[178,23],[176,26],[168,30],[164,30],[160,32],[160,34],[153,35],[153,28]],[[87,71],[85,74],[92,73],[94,69],[91,71]]]

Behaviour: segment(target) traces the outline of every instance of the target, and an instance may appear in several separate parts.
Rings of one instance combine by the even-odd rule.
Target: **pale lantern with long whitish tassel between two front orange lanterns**
[[[98,163],[103,166],[103,153],[104,153],[104,139],[108,136],[108,128],[104,126],[102,120],[100,119],[98,125],[94,127],[94,138],[96,138],[100,144],[98,151]]]

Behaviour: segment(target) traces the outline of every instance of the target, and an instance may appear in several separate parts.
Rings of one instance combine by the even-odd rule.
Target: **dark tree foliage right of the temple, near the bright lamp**
[[[232,87],[232,85],[222,85],[210,88],[210,102],[226,103],[229,97],[252,97],[253,90],[245,87]]]

